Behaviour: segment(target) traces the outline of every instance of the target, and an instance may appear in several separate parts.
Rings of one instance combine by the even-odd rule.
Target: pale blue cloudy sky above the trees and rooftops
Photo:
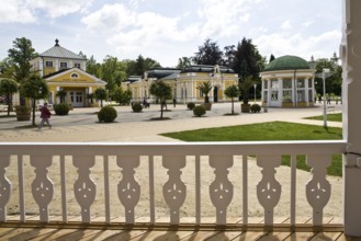
[[[59,45],[98,62],[139,55],[174,67],[205,39],[250,38],[269,59],[330,58],[341,43],[341,0],[0,0],[0,60],[26,37],[41,54]]]

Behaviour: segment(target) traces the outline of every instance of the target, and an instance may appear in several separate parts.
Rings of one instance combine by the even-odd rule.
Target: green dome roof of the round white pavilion
[[[268,64],[263,71],[309,69],[308,62],[297,56],[285,55]]]

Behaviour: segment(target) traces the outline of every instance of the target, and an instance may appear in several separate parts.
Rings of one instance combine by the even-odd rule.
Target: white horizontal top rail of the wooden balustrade
[[[307,140],[307,141],[235,141],[235,142],[2,142],[0,154],[26,154],[26,152],[67,154],[77,150],[76,154],[174,154],[187,152],[189,154],[316,154],[316,153],[343,153],[347,149],[346,140]]]

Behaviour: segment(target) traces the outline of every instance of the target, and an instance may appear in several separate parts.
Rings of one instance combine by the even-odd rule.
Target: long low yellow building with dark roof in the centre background
[[[173,97],[177,103],[203,103],[204,94],[198,90],[198,87],[205,81],[213,85],[210,92],[210,102],[230,101],[224,95],[224,90],[232,84],[238,84],[238,74],[228,67],[224,66],[189,66],[182,70],[173,68],[156,68],[145,72],[144,77],[129,78],[126,84],[133,94],[133,102],[143,101],[149,97],[155,102],[155,97],[149,94],[149,88],[153,81],[165,81],[173,90]]]

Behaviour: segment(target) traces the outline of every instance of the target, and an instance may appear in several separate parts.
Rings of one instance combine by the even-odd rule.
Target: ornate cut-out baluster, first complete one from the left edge
[[[54,194],[54,184],[47,176],[47,168],[52,165],[52,156],[31,156],[30,163],[35,168],[32,194],[40,208],[41,221],[47,222],[49,219],[48,205]]]

